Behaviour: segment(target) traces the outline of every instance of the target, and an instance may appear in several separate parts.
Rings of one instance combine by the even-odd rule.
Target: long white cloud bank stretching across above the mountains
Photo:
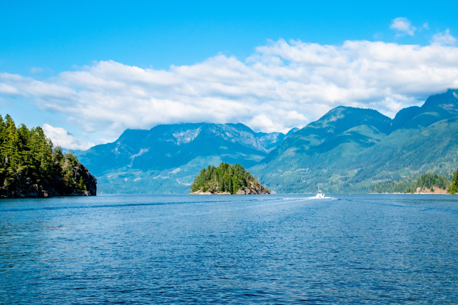
[[[286,132],[339,105],[393,117],[430,94],[458,87],[457,75],[454,46],[280,39],[245,60],[217,54],[168,70],[100,61],[40,81],[0,73],[0,94],[62,113],[89,138],[102,131],[114,140],[126,128],[180,122],[240,122],[256,131]],[[65,148],[89,145],[63,128],[47,128]]]

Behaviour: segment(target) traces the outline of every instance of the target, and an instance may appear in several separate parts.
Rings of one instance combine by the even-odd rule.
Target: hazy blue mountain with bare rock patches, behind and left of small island
[[[189,193],[202,167],[253,166],[285,135],[255,133],[244,124],[185,123],[125,130],[113,143],[79,152],[98,177],[99,193]]]

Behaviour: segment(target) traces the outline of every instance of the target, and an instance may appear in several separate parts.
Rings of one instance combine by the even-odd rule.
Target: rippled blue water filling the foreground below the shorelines
[[[457,304],[458,196],[0,200],[0,304]]]

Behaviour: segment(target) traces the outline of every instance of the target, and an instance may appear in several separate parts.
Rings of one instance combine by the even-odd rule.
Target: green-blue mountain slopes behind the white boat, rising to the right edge
[[[430,96],[391,120],[337,107],[287,137],[250,171],[277,192],[364,192],[377,181],[458,166],[457,90]]]

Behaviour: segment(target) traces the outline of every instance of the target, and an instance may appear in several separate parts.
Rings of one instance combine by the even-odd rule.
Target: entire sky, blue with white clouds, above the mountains
[[[80,146],[87,147],[89,144],[112,141],[125,128],[151,128],[158,123],[200,119],[218,123],[240,121],[256,130],[285,131],[293,124],[303,126],[339,103],[373,107],[392,116],[398,108],[419,104],[430,93],[454,84],[453,67],[452,70],[442,71],[442,74],[450,74],[449,78],[442,80],[430,75],[436,79],[436,83],[426,88],[422,81],[426,81],[428,75],[421,79],[413,77],[410,83],[404,84],[409,90],[399,89],[396,84],[388,84],[384,79],[373,81],[375,85],[366,85],[364,90],[355,89],[355,84],[360,81],[343,83],[348,79],[353,80],[353,77],[364,80],[364,77],[372,77],[378,72],[355,76],[355,70],[348,72],[347,68],[339,65],[338,60],[343,56],[350,62],[360,59],[360,63],[364,63],[368,60],[366,54],[374,49],[387,48],[387,52],[397,53],[390,49],[389,43],[394,43],[399,50],[409,45],[425,47],[421,52],[418,49],[409,51],[412,54],[421,53],[421,59],[417,64],[410,63],[411,66],[402,68],[399,72],[399,78],[402,78],[406,73],[417,74],[413,67],[422,66],[426,60],[431,62],[431,56],[449,52],[453,59],[456,52],[456,40],[453,39],[458,36],[458,23],[453,13],[458,5],[453,1],[352,1],[351,4],[344,1],[280,4],[266,1],[232,1],[223,4],[213,1],[199,4],[164,2],[78,1],[57,5],[55,1],[4,1],[0,6],[0,73],[6,73],[7,76],[0,79],[0,89],[2,82],[4,88],[0,90],[1,113],[10,113],[16,122],[29,126],[48,124],[53,128],[64,128],[65,132],[75,136],[71,141],[85,143]],[[401,27],[399,23],[395,25],[396,18],[401,18],[398,19]],[[348,47],[344,46],[346,41],[380,41],[384,44]],[[305,46],[300,43],[308,44],[307,49],[304,50]],[[311,49],[311,43],[336,47],[336,52],[344,52],[345,55],[335,55],[333,48],[325,51]],[[434,52],[429,49],[432,45],[437,46]],[[445,51],[439,49],[439,45],[446,48]],[[294,50],[291,50],[291,46]],[[288,53],[290,51],[292,53]],[[305,52],[307,60],[291,55],[296,51]],[[377,55],[378,58],[383,56],[383,52]],[[429,52],[428,55],[425,55],[426,52]],[[327,70],[335,69],[347,76],[329,80],[326,76],[329,73],[324,70],[317,75],[317,63],[308,60],[312,53],[313,56],[326,53],[327,59],[335,61]],[[406,58],[415,56],[412,54],[405,54]],[[396,68],[402,65],[393,63],[391,59],[384,61],[384,64],[387,62]],[[207,66],[199,63],[206,63]],[[438,62],[428,69],[445,69],[447,64]],[[181,69],[177,68],[179,71],[174,72],[172,65]],[[260,65],[273,70],[266,72],[260,68],[260,72]],[[302,70],[294,70],[298,66]],[[132,72],[130,67],[138,67],[143,72]],[[220,67],[224,69],[218,75],[211,75]],[[389,71],[393,67],[384,69]],[[296,75],[293,80],[292,72],[288,75],[280,73],[284,68],[288,68],[289,72],[296,71],[294,73],[305,69],[315,74]],[[359,68],[357,70],[361,71]],[[84,74],[80,72],[85,73],[82,78],[86,80],[94,77],[93,82],[88,84],[78,78]],[[131,75],[131,79],[125,79],[126,73]],[[244,80],[244,83],[252,82],[253,87],[249,90],[242,88],[240,82],[229,81],[228,75],[234,73],[242,77],[253,73],[252,78]],[[117,75],[116,79],[112,78],[113,74]],[[14,79],[11,75],[19,75],[22,79]],[[138,80],[139,75],[151,81]],[[239,79],[240,75],[237,76]],[[388,78],[388,75],[385,77]],[[161,78],[170,79],[170,83],[162,84]],[[199,82],[194,82],[196,79]],[[304,81],[300,82],[299,79]],[[178,80],[183,83],[177,85]],[[270,80],[277,82],[271,88],[266,88],[270,93],[258,92],[262,87],[260,84],[267,84]],[[158,88],[158,83],[161,83],[161,88]],[[212,90],[203,91],[202,88],[210,83],[212,85],[208,86]],[[116,84],[119,86],[116,87]],[[169,92],[172,84],[184,91],[177,94],[178,87],[174,87],[173,92]],[[31,86],[34,91],[30,89]],[[190,88],[186,89],[186,86]],[[322,96],[316,92],[320,86],[323,88]],[[125,87],[125,90],[120,92],[120,87]],[[46,90],[59,91],[60,94],[41,92]],[[289,94],[299,91],[303,91],[303,94]],[[356,95],[349,93],[356,91],[359,92]],[[375,91],[377,93],[371,93]],[[334,95],[329,92],[334,92]],[[137,93],[138,98],[131,100],[131,96]],[[278,96],[275,95],[277,93]],[[69,99],[65,94],[75,97]],[[123,94],[123,100],[115,98]],[[88,103],[90,105],[91,99],[98,105],[93,111],[115,113],[128,108],[136,109],[120,114],[123,117],[120,119],[114,113],[92,117],[83,113],[83,108]],[[147,112],[148,102],[145,101],[149,101],[156,109],[154,113],[142,116]],[[202,101],[205,102],[202,104]],[[270,102],[264,104],[265,101]],[[243,107],[250,103],[263,105],[267,111],[257,113],[254,108]],[[116,107],[112,106],[114,104]],[[220,105],[220,108],[202,110],[202,113],[195,111],[196,107],[213,104]],[[194,108],[188,109],[188,106]],[[78,111],[78,107],[81,111]],[[174,110],[176,107],[178,110]],[[218,113],[228,107],[230,111],[225,115]],[[187,109],[187,112],[181,109]],[[283,110],[283,114],[275,114],[276,109]],[[164,115],[155,116],[158,111]],[[280,117],[284,118],[283,122]],[[91,127],[82,128],[83,119],[87,119]],[[52,134],[54,129],[49,130]],[[58,132],[63,132],[63,129],[54,132],[54,136],[58,137]]]

